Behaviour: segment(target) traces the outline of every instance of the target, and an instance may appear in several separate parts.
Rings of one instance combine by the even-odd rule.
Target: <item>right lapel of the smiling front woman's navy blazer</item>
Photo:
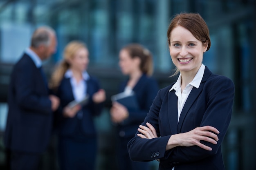
[[[192,91],[190,92],[189,97],[187,98],[187,100],[184,104],[184,107],[183,107],[182,112],[180,114],[179,123],[178,123],[178,132],[181,131],[183,121],[184,121],[187,113],[189,112],[189,109],[191,108],[191,106],[195,102],[195,100],[198,98],[200,93],[202,92],[202,90],[204,88],[204,82],[206,82],[206,80],[208,79],[208,77],[210,75],[211,75],[211,71],[209,70],[209,68],[207,68],[207,66],[205,66],[204,76],[202,78],[202,81],[201,81],[201,84],[200,84],[199,88],[195,88],[195,87],[192,88]]]

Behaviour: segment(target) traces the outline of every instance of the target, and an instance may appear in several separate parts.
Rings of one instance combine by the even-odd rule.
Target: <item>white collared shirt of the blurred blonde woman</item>
[[[85,83],[85,80],[90,78],[89,74],[86,71],[83,72],[83,79],[80,82],[76,82],[73,72],[70,69],[66,71],[64,76],[65,78],[70,78],[74,99],[78,102],[81,101],[87,93],[87,84]]]

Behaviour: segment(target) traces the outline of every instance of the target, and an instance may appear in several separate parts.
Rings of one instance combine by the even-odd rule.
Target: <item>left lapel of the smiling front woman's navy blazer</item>
[[[170,129],[172,134],[178,133],[178,97],[175,95],[175,90],[168,92],[168,118],[170,121]]]

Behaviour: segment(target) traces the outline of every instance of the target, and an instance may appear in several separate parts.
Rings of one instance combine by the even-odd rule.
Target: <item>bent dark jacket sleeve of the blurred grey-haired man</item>
[[[38,74],[36,73],[37,71]],[[45,88],[45,84],[36,82],[41,75],[33,64],[17,65],[13,76],[15,79],[13,86],[16,89],[16,99],[21,108],[35,113],[52,113],[48,89]]]

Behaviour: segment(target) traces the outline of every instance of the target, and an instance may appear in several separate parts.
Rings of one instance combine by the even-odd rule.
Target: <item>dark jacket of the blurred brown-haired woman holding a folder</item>
[[[120,86],[120,91],[123,92],[128,80],[123,82]],[[157,95],[159,90],[157,82],[152,77],[143,74],[137,84],[132,89],[137,97],[139,110],[129,110],[129,117],[122,124],[119,125],[119,133],[123,134],[126,138],[132,138],[137,131],[139,124],[144,121],[148,110]]]

